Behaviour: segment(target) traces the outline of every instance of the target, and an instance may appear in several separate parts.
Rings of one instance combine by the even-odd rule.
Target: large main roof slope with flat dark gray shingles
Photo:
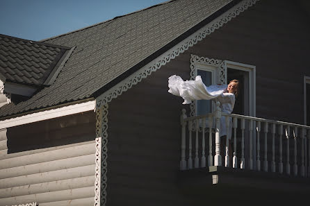
[[[76,46],[76,49],[53,85],[28,101],[3,106],[0,117],[94,96],[229,2],[169,1],[45,40],[49,44]]]

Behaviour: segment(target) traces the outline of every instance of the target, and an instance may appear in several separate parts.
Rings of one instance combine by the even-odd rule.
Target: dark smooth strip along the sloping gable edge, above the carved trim
[[[118,83],[120,83],[122,80],[124,80],[125,78],[129,77],[131,74],[133,74],[134,72],[138,71],[139,69],[141,69],[143,66],[147,65],[149,62],[152,62],[152,60],[158,58],[158,56],[160,56],[162,53],[165,53],[165,51],[168,51],[169,49],[171,49],[173,46],[179,44],[179,42],[183,41],[186,39],[186,37],[192,35],[193,33],[195,33],[196,31],[198,31],[200,28],[202,28],[203,26],[205,26],[206,24],[209,24],[210,22],[212,22],[214,19],[220,17],[220,15],[222,15],[223,13],[227,12],[229,9],[233,8],[234,6],[236,6],[238,3],[240,3],[243,0],[233,0],[229,3],[227,3],[225,6],[223,6],[222,8],[220,8],[219,10],[213,12],[212,15],[210,15],[209,17],[206,17],[206,19],[202,20],[202,22],[199,22],[198,24],[196,24],[195,26],[193,26],[192,28],[190,28],[188,31],[186,31],[185,33],[179,35],[179,37],[175,38],[174,40],[172,40],[172,42],[166,44],[165,46],[163,46],[161,49],[158,49],[156,52],[154,52],[152,55],[149,55],[147,58],[145,58],[144,60],[142,60],[141,62],[139,62],[137,65],[131,67],[131,69],[125,71],[123,74],[121,74],[120,76],[117,76],[117,78],[111,80],[110,83],[104,85],[103,87],[101,87],[100,89],[97,89],[97,91],[95,91],[92,96],[94,96],[95,98],[97,98],[97,96],[100,96],[101,94],[103,94],[104,92],[106,92],[108,89],[112,88],[113,86],[117,85]]]

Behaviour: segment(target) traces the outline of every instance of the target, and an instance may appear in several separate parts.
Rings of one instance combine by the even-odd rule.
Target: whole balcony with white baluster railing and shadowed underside
[[[309,193],[310,126],[224,114],[219,105],[198,117],[182,110],[181,184]],[[232,123],[231,140],[220,137],[221,118],[227,130]]]

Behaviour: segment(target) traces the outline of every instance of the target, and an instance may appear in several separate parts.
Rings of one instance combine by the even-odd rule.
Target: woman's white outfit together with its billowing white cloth
[[[184,99],[183,104],[189,104],[194,100],[215,99],[215,101],[220,102],[222,112],[231,114],[234,109],[235,95],[227,92],[227,85],[206,87],[201,76],[196,76],[195,80],[183,81],[180,76],[173,75],[168,78],[168,87],[168,92]],[[231,129],[232,120],[229,118],[229,131],[227,134],[225,116],[222,116],[220,119],[220,136],[228,135],[229,139],[231,139]]]

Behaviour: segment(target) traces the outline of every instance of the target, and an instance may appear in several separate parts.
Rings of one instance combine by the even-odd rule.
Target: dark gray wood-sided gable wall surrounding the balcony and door
[[[254,204],[239,193],[179,187],[179,117],[188,105],[168,93],[168,77],[189,79],[191,53],[255,65],[256,116],[302,123],[303,76],[310,76],[305,17],[297,5],[259,1],[109,103],[107,205]]]

